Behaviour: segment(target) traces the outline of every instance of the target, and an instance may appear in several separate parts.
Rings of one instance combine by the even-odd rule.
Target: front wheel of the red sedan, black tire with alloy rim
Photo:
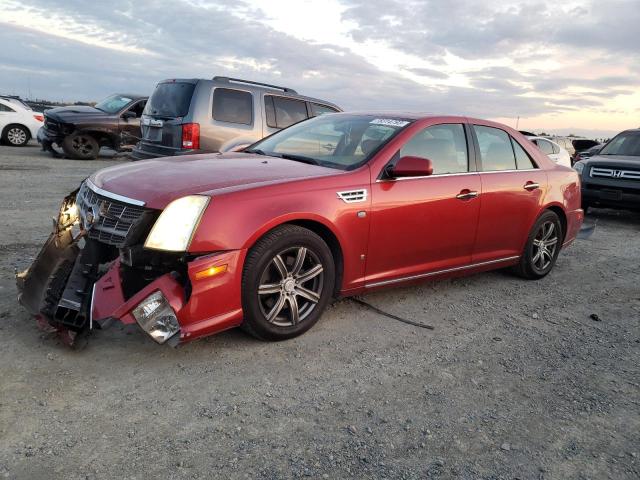
[[[320,319],[334,285],[333,255],[324,240],[296,225],[277,227],[247,255],[242,272],[242,329],[262,340],[297,337]]]

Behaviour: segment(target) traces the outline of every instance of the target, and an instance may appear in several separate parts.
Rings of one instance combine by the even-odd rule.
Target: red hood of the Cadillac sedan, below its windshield
[[[105,168],[90,180],[111,193],[162,209],[176,198],[336,175],[341,170],[246,153],[164,157]]]

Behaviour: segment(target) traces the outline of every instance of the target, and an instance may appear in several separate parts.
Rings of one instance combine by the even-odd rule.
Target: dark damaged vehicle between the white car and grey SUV
[[[44,150],[56,154],[58,145],[74,159],[97,158],[100,147],[120,151],[140,139],[140,117],[147,97],[114,94],[95,107],[69,106],[44,112],[44,126],[38,141]]]

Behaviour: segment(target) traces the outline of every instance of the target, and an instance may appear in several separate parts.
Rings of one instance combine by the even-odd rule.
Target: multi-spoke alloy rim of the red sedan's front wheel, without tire
[[[322,295],[324,267],[318,255],[292,247],[275,255],[258,285],[258,303],[269,323],[291,327],[303,322]]]

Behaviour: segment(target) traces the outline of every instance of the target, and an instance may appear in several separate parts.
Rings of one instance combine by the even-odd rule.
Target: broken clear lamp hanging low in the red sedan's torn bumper
[[[158,343],[164,343],[180,331],[176,313],[162,292],[154,292],[131,312],[138,325]]]

